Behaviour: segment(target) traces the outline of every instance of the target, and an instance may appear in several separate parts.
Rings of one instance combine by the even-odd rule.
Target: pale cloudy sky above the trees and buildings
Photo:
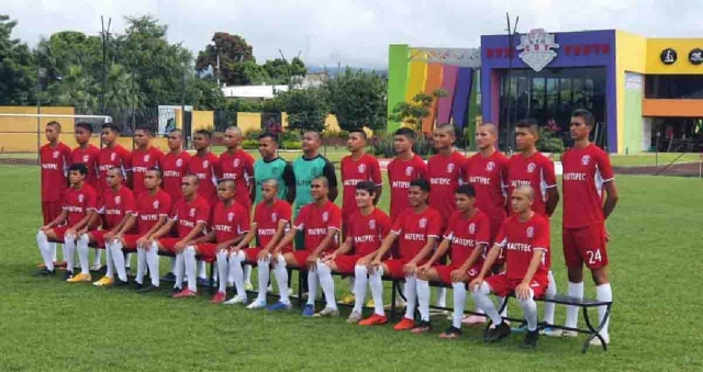
[[[13,37],[34,46],[72,30],[100,32],[100,15],[124,30],[125,15],[150,14],[168,25],[170,42],[193,54],[213,33],[244,36],[258,61],[301,54],[308,65],[386,68],[389,44],[478,47],[480,35],[617,29],[648,37],[703,37],[700,0],[2,0],[0,13],[19,22]],[[672,5],[676,4],[676,5]]]

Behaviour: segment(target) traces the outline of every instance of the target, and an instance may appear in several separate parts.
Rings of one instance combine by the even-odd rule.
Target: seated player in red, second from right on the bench
[[[457,212],[449,218],[444,240],[425,264],[417,268],[417,305],[424,326],[414,334],[427,332],[429,327],[429,282],[442,282],[454,289],[454,317],[451,327],[440,338],[459,338],[466,306],[466,284],[481,271],[483,255],[489,244],[491,221],[476,207],[476,190],[470,184],[460,185],[455,193]],[[434,266],[451,247],[451,263]],[[433,267],[434,266],[434,267]]]

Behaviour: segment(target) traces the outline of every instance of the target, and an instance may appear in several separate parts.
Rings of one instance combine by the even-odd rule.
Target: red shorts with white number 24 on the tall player
[[[568,268],[581,268],[583,263],[593,270],[607,266],[605,226],[591,225],[562,229],[563,258]]]

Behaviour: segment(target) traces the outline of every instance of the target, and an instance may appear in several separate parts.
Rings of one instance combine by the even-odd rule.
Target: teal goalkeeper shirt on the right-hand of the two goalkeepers
[[[312,159],[304,156],[293,162],[293,173],[295,174],[295,216],[303,206],[313,202],[310,194],[310,183],[312,180],[324,176],[330,182],[330,188],[337,187],[337,174],[334,172],[334,165],[322,155]]]

